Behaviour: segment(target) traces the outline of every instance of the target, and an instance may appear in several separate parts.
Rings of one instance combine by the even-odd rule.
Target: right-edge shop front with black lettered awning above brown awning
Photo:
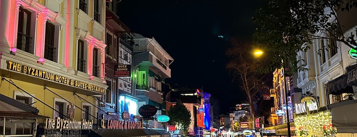
[[[331,110],[337,136],[357,135],[357,68],[354,64],[346,70],[347,73],[326,84],[327,108]]]

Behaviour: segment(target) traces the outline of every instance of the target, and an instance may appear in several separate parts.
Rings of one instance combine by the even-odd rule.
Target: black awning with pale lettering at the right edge
[[[327,92],[332,95],[353,93],[352,86],[357,85],[357,69],[343,74],[342,76],[327,82]]]

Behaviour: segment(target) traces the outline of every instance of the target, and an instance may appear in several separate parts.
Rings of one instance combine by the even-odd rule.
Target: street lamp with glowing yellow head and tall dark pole
[[[258,57],[261,56],[264,52],[261,50],[254,50],[254,56]],[[282,75],[283,75],[283,81],[284,81],[284,94],[285,94],[285,110],[287,110],[287,128],[288,128],[288,136],[291,136],[290,133],[290,118],[289,118],[289,108],[288,108],[288,88],[287,88],[287,81],[285,79],[285,66],[284,66],[284,61],[283,59],[281,59],[281,71],[282,71]]]

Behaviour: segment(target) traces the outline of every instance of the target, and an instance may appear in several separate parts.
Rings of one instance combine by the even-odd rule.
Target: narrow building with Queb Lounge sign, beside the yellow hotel
[[[116,114],[129,111],[136,116],[137,98],[132,84],[134,39],[130,29],[116,15],[120,1],[106,2],[105,83],[108,85],[103,109]]]

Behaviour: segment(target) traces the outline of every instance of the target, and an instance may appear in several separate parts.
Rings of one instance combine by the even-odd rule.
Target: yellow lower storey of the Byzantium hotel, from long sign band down
[[[66,67],[56,62],[41,64],[20,59],[19,56],[8,56],[3,55],[0,60],[0,74],[3,76],[0,94],[36,108],[37,113],[44,117],[38,118],[37,114],[31,118],[27,117],[27,113],[0,112],[0,115],[8,115],[6,121],[11,120],[11,123],[5,122],[5,128],[1,128],[6,134],[33,134],[29,130],[34,128],[36,136],[88,135],[97,122],[97,97],[104,95],[107,88],[100,78],[91,80],[86,73],[74,75],[65,72],[60,68]],[[26,119],[19,117],[22,115]],[[20,123],[22,127],[19,127]]]

